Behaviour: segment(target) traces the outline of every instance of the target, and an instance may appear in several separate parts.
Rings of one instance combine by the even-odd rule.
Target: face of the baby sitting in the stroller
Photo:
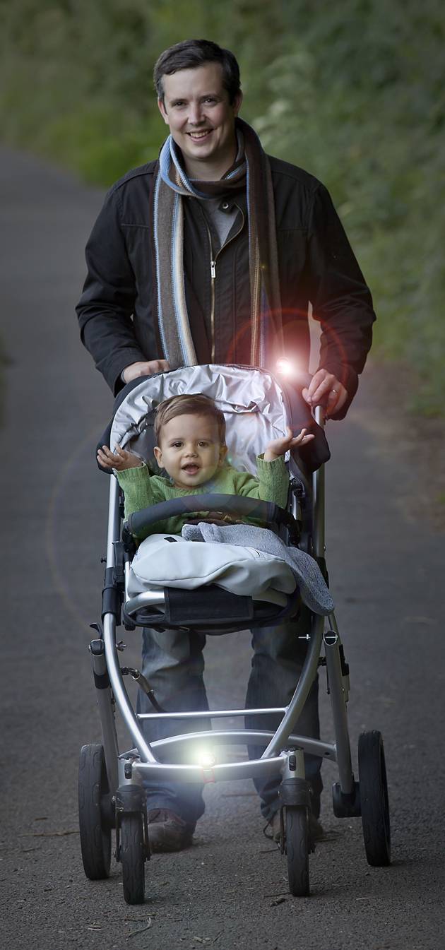
[[[156,461],[176,488],[204,485],[223,465],[218,424],[208,415],[181,415],[165,423],[155,447]]]

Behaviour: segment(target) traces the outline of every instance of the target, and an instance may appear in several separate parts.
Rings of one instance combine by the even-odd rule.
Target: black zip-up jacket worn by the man
[[[342,418],[371,346],[371,295],[326,188],[295,165],[270,161],[284,354],[307,369],[312,303],[322,328],[319,366],[333,372],[348,390],[348,402],[337,415]],[[87,280],[77,314],[82,340],[114,393],[123,386],[126,366],[164,355],[153,306],[150,216],[156,167],[156,161],[148,162],[110,188],[87,242]],[[199,363],[211,362],[212,355],[217,363],[250,361],[245,192],[233,200],[240,213],[217,257],[212,330],[210,260],[215,255],[201,202],[184,199],[185,294]]]

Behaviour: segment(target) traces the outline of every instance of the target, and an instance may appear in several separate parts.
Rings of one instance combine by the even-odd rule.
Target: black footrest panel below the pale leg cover
[[[243,623],[253,619],[254,605],[251,597],[242,597],[224,591],[216,584],[208,584],[199,590],[184,590],[181,587],[164,588],[165,626],[181,623],[216,624],[219,622]]]

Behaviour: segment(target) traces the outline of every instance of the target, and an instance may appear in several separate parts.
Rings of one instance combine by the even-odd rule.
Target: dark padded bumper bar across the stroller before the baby
[[[273,502],[261,502],[256,498],[242,498],[239,495],[185,495],[184,498],[172,498],[169,502],[152,504],[141,511],[134,511],[126,522],[130,534],[138,535],[143,528],[157,522],[164,522],[184,514],[212,513],[243,515],[258,519],[267,524],[284,524],[291,536],[300,535],[300,525],[284,508]]]

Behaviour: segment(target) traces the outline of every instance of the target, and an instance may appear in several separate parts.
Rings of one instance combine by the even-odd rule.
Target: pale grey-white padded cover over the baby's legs
[[[175,538],[176,542],[166,538]],[[128,595],[134,597],[160,587],[194,590],[205,584],[218,584],[232,594],[280,606],[286,603],[285,595],[292,594],[297,586],[288,564],[256,548],[155,534],[145,538],[133,558]]]

